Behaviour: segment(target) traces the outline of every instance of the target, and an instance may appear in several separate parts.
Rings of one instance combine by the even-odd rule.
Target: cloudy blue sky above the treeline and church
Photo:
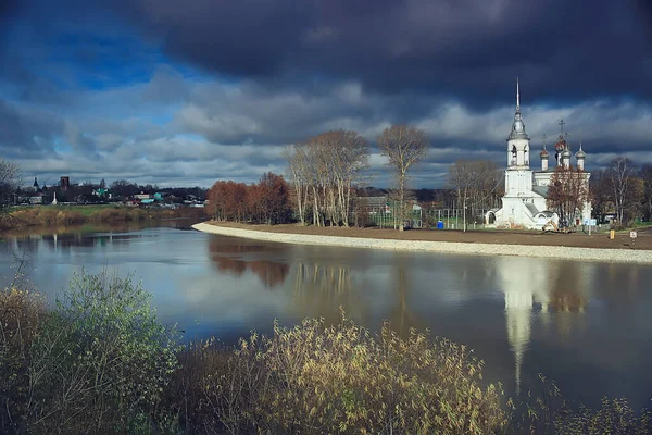
[[[439,188],[459,159],[504,165],[519,77],[536,154],[564,119],[588,170],[652,163],[648,4],[0,0],[0,157],[29,185],[209,187],[286,174],[285,147],[346,128],[387,187],[375,141],[408,123],[430,140],[411,183]]]

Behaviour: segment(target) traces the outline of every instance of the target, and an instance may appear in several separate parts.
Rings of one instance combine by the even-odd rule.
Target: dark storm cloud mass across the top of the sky
[[[649,9],[632,0],[135,0],[120,11],[176,59],[286,86],[354,78],[493,104],[521,75],[530,100],[652,95]]]

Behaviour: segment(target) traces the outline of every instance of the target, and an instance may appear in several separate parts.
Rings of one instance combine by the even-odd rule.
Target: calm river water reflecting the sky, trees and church
[[[184,225],[8,238],[2,284],[14,252],[51,300],[82,268],[133,273],[187,340],[235,343],[275,319],[331,323],[341,307],[372,330],[389,320],[403,335],[429,328],[467,345],[510,395],[543,373],[574,402],[652,405],[650,265],[298,246],[174,226]]]

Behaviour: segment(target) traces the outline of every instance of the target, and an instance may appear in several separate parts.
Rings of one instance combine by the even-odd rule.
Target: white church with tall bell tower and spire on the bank
[[[512,123],[512,130],[507,137],[507,169],[505,170],[505,195],[502,198],[502,208],[489,210],[485,216],[486,226],[494,228],[527,228],[543,229],[556,227],[559,215],[550,210],[546,200],[548,186],[557,166],[570,167],[570,145],[564,135],[564,121],[560,122],[562,133],[555,144],[555,166],[549,167],[549,153],[543,145],[539,153],[541,169],[530,169],[530,138],[525,133],[525,124],[521,115],[521,95],[518,80],[516,80],[516,113]],[[584,171],[587,154],[581,149],[575,153],[577,169]],[[588,185],[590,173],[585,173]],[[579,213],[581,222],[591,217],[591,203],[586,202]],[[570,223],[572,224],[572,223]]]

